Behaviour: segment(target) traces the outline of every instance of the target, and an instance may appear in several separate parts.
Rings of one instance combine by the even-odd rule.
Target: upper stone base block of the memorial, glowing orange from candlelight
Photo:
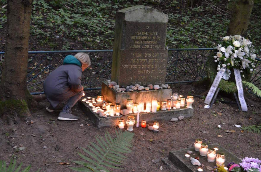
[[[101,95],[106,102],[112,102],[112,104],[120,103],[122,109],[126,109],[125,104],[127,99],[133,99],[133,102],[139,103],[140,101],[166,101],[171,98],[172,90],[171,89],[159,89],[159,90],[136,90],[133,92],[120,92],[110,88],[105,82],[102,83]]]

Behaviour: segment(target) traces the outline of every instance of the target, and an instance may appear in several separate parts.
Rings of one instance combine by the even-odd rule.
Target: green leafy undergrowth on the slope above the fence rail
[[[6,3],[0,0],[1,51],[4,51]],[[169,48],[214,47],[227,31],[228,3],[203,1],[201,7],[192,9],[182,0],[34,0],[30,47],[31,50],[112,49],[116,11],[133,5],[150,6],[168,14]],[[255,0],[247,30],[247,37],[257,50],[261,48],[260,7],[261,1]]]

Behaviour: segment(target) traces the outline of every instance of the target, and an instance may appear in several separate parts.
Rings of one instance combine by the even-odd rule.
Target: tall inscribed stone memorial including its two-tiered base
[[[134,6],[116,12],[116,25],[114,48],[112,57],[112,79],[119,87],[134,87],[137,84],[141,87],[151,88],[148,90],[139,89],[131,91],[117,91],[108,82],[102,83],[101,94],[103,100],[121,104],[121,109],[126,109],[127,99],[133,102],[167,101],[171,98],[172,90],[168,88],[152,89],[152,85],[162,85],[165,83],[168,50],[165,49],[166,28],[168,15],[156,9],[145,6]],[[114,85],[116,86],[116,85]],[[166,87],[166,86],[165,86]],[[124,88],[125,89],[125,88]],[[99,117],[93,112],[92,107],[84,101],[79,101],[79,105],[87,114],[90,120],[97,127],[115,126],[118,119],[125,121],[129,115],[136,118],[137,114],[127,114],[123,116]],[[160,110],[157,112],[140,112],[139,117],[147,122],[154,120],[170,120],[179,116],[193,116],[193,108]]]

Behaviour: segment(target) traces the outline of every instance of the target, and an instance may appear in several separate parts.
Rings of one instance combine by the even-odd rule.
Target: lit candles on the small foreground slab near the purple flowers
[[[197,138],[194,143],[195,151],[199,151],[201,156],[207,156],[208,162],[214,162],[216,160],[216,165],[222,166],[225,163],[225,154],[224,153],[216,153],[218,148],[214,147],[213,149],[209,149],[206,143],[202,143],[202,139]],[[186,154],[185,157],[190,157],[190,155]],[[202,168],[199,168],[198,171],[203,171]]]

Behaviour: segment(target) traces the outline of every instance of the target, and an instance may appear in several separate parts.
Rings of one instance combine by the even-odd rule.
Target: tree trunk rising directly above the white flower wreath
[[[242,35],[246,32],[254,0],[236,0],[232,5],[227,35]]]

